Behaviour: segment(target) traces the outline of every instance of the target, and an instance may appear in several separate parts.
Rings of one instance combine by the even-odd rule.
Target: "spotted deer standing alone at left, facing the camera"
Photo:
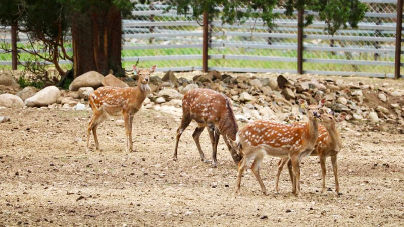
[[[93,116],[87,127],[87,146],[90,132],[94,135],[95,148],[99,151],[97,127],[108,115],[123,115],[125,121],[126,148],[125,152],[133,150],[132,123],[135,113],[142,107],[144,99],[150,92],[149,76],[156,70],[156,65],[150,68],[138,68],[133,65],[133,71],[138,76],[137,87],[100,87],[88,96]]]

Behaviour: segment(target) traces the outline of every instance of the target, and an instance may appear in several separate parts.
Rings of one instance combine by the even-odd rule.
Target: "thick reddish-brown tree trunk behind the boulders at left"
[[[92,7],[85,13],[77,12],[72,18],[74,77],[95,70],[116,76],[124,75],[121,64],[121,12],[114,5],[108,8]]]

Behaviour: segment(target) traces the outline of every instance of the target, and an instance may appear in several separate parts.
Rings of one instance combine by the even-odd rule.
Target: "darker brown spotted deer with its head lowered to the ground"
[[[173,156],[174,161],[177,161],[178,142],[181,134],[192,120],[196,121],[198,124],[192,137],[203,162],[210,162],[205,158],[204,152],[199,144],[199,136],[204,131],[205,127],[208,129],[211,139],[211,163],[213,167],[217,167],[216,152],[220,135],[223,135],[223,139],[230,151],[233,161],[236,164],[240,161],[241,157],[237,155],[236,150],[232,149],[230,141],[227,139],[231,138],[234,140],[238,132],[238,125],[229,98],[217,91],[201,88],[187,92],[182,99],[182,118],[181,125],[177,129]]]

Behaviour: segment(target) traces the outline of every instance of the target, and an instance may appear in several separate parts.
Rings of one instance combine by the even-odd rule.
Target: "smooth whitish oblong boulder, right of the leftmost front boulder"
[[[38,91],[34,96],[25,99],[28,107],[48,106],[55,103],[60,97],[60,91],[55,86],[48,86]]]

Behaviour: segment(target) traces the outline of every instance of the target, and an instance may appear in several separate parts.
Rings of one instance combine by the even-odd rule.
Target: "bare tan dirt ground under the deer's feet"
[[[135,152],[123,153],[123,127],[98,128],[102,152],[85,152],[92,113],[60,109],[0,109],[0,226],[396,226],[404,221],[404,135],[342,131],[342,196],[330,161],[322,195],[318,158],[303,160],[302,196],[291,194],[287,170],[273,193],[277,158],[266,157],[265,196],[248,169],[235,194],[236,166],[222,139],[218,167],[200,161],[183,133],[172,161],[179,119],[141,109],[134,120]],[[93,148],[91,136],[91,147]],[[201,145],[211,157],[208,132]],[[401,223],[401,224],[400,224]]]

